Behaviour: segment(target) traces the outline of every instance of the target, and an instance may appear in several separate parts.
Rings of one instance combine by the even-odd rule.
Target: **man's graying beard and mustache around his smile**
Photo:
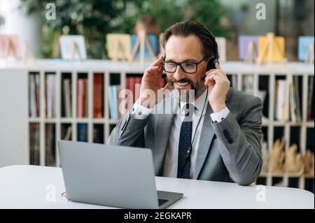
[[[190,89],[174,89],[175,90],[175,95],[176,98],[178,98],[180,101],[183,102],[192,102],[197,99],[202,92],[204,92],[204,89],[207,88],[207,86],[204,85],[204,81],[198,81],[198,82],[193,82],[193,80],[190,80],[188,78],[183,78],[181,80],[176,80],[175,78],[168,78],[167,77],[167,82],[171,87],[174,87],[174,83],[186,83],[188,82],[188,85],[190,85]]]

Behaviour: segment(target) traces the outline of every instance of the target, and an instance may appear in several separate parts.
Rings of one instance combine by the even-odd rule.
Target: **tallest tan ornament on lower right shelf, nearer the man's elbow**
[[[272,154],[270,156],[270,163],[269,163],[269,170],[273,173],[283,173],[284,172],[284,145],[285,140],[284,138],[280,140],[279,138],[276,139],[274,142],[274,147],[272,149]]]

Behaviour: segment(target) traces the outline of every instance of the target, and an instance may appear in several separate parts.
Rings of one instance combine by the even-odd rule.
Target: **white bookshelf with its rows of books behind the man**
[[[19,120],[20,128],[17,128],[22,129],[18,133],[20,137],[17,138],[23,139],[19,142],[19,145],[22,145],[19,154],[24,159],[23,164],[59,166],[57,146],[53,143],[48,146],[47,141],[66,139],[106,143],[111,130],[118,122],[111,114],[113,111],[110,105],[114,103],[111,101],[113,97],[109,89],[118,91],[119,88],[129,88],[132,81],[136,83],[141,80],[142,73],[149,65],[146,63],[141,66],[138,62],[132,65],[124,62],[113,63],[108,60],[88,60],[83,63],[38,60],[36,66],[22,64],[1,66],[0,78],[5,77],[6,80],[13,78],[14,75],[10,72],[19,76],[20,91],[14,92],[14,95],[19,96],[15,101],[22,100],[20,104],[23,109],[20,109],[20,114],[25,120],[25,122]],[[267,69],[244,62],[222,62],[221,67],[230,78],[232,87],[260,96],[264,101],[262,130],[269,153],[272,152],[274,141],[282,137],[287,139],[286,151],[291,143],[297,143],[302,154],[307,150],[314,152],[314,105],[309,104],[309,94],[313,92],[314,85],[314,65],[289,62],[286,68],[279,66]],[[283,81],[283,85],[295,80],[300,87],[295,93],[300,99],[301,119],[296,122],[290,118],[288,105],[284,107],[284,112],[289,114],[288,120],[280,122],[276,119],[276,84],[279,80]],[[0,93],[7,94],[1,92],[1,89],[8,91],[8,87],[3,87],[0,81]],[[53,94],[50,94],[51,92]],[[290,92],[286,91],[283,96],[288,97],[289,94]],[[12,107],[11,110],[13,109],[15,108]],[[8,117],[12,117],[10,110],[7,110]],[[309,110],[312,112],[309,113]],[[0,127],[0,130],[1,128],[3,128],[1,132],[6,131],[6,127]],[[17,135],[15,132],[11,134]],[[0,136],[0,139],[1,137],[4,136]],[[12,150],[14,146],[17,145],[10,143],[6,148]],[[290,180],[292,178],[297,178],[297,182],[292,182]],[[311,188],[310,190],[314,192],[314,174],[262,172],[257,183],[274,185],[276,181],[283,181],[283,185],[286,186]]]

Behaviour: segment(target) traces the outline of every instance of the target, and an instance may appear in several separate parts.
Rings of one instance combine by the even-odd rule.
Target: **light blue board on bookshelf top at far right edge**
[[[299,36],[298,58],[305,64],[314,64],[314,36]]]

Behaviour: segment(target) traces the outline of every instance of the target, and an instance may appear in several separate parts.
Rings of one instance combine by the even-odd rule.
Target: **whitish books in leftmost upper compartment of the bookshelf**
[[[29,117],[39,117],[39,73],[29,74]]]

